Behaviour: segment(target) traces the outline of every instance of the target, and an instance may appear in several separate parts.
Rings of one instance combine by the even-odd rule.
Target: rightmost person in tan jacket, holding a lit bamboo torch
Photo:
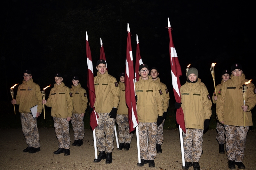
[[[256,89],[252,83],[246,84],[242,65],[239,63],[231,66],[231,77],[223,83],[221,92],[216,101],[216,113],[220,123],[226,130],[226,151],[228,168],[244,169],[244,148],[249,126],[252,126],[251,110],[256,104]],[[247,95],[244,98],[242,87],[246,84]],[[245,116],[245,124],[244,124]]]

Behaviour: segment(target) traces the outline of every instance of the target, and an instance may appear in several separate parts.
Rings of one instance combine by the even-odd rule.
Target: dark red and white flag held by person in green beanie
[[[169,18],[168,18],[168,32],[169,32],[169,38],[170,38],[169,52],[170,52],[171,73],[172,73],[172,87],[173,87],[175,100],[176,102],[180,103],[180,86],[181,86],[180,76],[182,75],[182,73],[180,68],[180,62],[172,41],[172,28],[170,25]],[[186,133],[184,113],[181,107],[176,111],[176,121],[180,125],[180,128]]]

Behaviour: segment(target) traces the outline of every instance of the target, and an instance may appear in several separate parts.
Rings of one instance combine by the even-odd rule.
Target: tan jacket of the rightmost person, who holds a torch
[[[228,81],[222,85],[221,92],[218,95],[216,104],[216,113],[220,122],[231,126],[244,126],[244,111],[241,108],[244,105],[242,86],[249,80],[245,75],[230,76]],[[248,110],[245,112],[245,126],[252,126],[252,108],[256,104],[256,89],[254,84],[246,85],[245,105]]]

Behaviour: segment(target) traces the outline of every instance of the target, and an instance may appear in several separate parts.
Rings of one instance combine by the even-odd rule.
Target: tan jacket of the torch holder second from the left
[[[64,82],[60,85],[54,84],[54,88],[51,89],[45,105],[52,107],[52,117],[72,117],[74,107],[73,97],[70,89],[65,86]]]

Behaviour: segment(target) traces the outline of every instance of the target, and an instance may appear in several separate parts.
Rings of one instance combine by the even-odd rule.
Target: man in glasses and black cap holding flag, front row
[[[135,91],[141,161],[137,166],[148,163],[148,167],[155,167],[157,126],[164,120],[164,95],[160,86],[148,75],[147,64],[140,65],[139,74]]]

